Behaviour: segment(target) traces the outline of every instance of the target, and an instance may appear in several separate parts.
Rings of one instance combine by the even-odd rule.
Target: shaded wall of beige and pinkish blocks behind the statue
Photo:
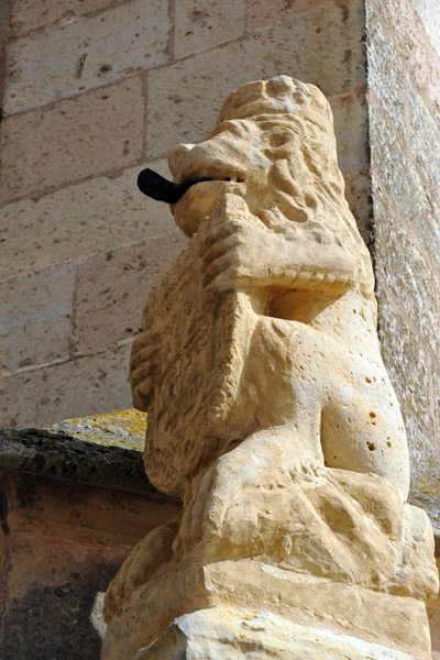
[[[334,112],[369,234],[362,0],[10,1],[1,123],[0,426],[130,406],[140,311],[185,239],[135,187],[227,95],[288,74]]]

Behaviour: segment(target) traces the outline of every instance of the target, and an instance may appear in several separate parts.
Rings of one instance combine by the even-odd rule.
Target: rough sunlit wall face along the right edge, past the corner
[[[418,474],[440,455],[440,14],[366,2],[378,327]],[[415,471],[416,472],[416,471]],[[436,477],[437,480],[437,477]]]

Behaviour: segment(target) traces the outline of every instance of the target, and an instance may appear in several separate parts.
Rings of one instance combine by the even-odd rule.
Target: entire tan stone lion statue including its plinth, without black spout
[[[277,651],[250,642],[263,658],[305,657],[306,629],[283,650],[279,629],[299,625],[323,630],[312,658],[338,657],[343,634],[339,657],[381,657],[371,642],[428,660],[432,529],[406,504],[406,436],[326,98],[286,76],[249,84],[169,165],[196,182],[173,208],[190,242],[145,307],[131,384],[147,475],[184,510],[111,583],[102,658],[201,658],[206,639],[205,657],[240,657],[237,620],[271,613]],[[178,639],[176,617],[215,606]]]

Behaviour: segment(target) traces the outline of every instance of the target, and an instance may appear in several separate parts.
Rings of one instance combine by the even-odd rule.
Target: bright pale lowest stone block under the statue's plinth
[[[351,635],[300,626],[273,613],[230,607],[176,618],[131,660],[415,660]]]

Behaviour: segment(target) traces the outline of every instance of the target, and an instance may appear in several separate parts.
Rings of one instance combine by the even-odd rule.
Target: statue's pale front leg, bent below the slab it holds
[[[292,425],[253,433],[204,475],[184,513],[175,550],[187,553],[198,546],[212,557],[240,553],[258,535],[267,494],[298,477],[315,477],[322,468],[319,438],[306,441]]]

